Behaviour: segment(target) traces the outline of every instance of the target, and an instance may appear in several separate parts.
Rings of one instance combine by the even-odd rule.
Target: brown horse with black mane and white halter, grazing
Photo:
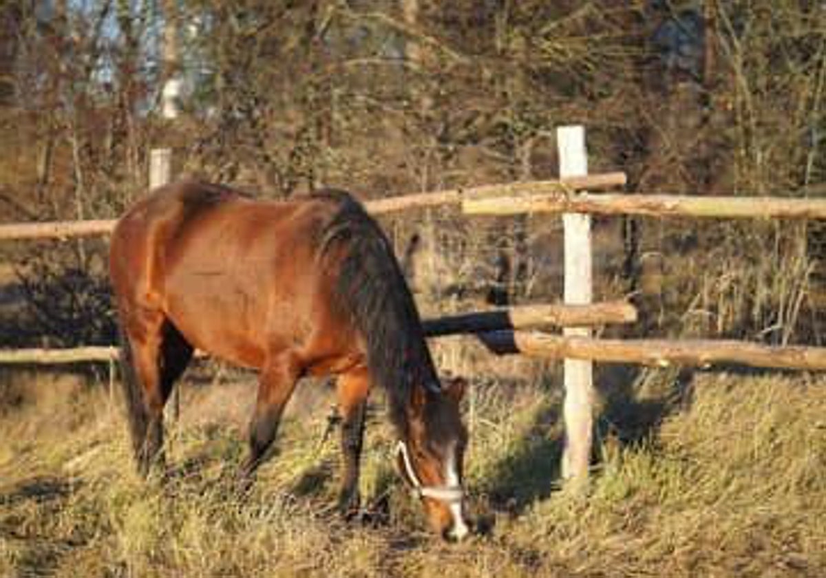
[[[468,533],[462,381],[440,385],[418,312],[377,223],[346,192],[256,201],[226,187],[179,182],[139,201],[112,235],[123,380],[139,471],[163,459],[163,410],[194,348],[260,372],[249,427],[253,476],[284,405],[306,375],[337,376],[344,479],[358,509],[364,408],[387,391],[397,460],[430,524]]]

